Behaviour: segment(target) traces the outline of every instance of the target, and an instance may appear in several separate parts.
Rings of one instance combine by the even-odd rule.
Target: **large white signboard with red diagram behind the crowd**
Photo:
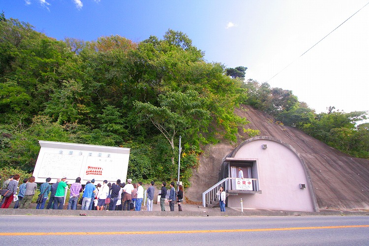
[[[125,182],[127,178],[128,148],[51,141],[39,141],[39,144],[41,149],[33,171],[37,183],[49,177],[51,183],[66,177],[69,184],[77,177],[81,177],[81,184],[92,179],[95,184],[104,180],[116,183],[118,179]]]

